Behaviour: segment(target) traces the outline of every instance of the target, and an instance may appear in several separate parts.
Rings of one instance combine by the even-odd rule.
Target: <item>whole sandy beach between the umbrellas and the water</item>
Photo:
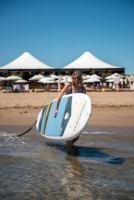
[[[31,125],[58,92],[3,93],[0,125]],[[87,92],[92,101],[88,125],[134,127],[134,92]]]

